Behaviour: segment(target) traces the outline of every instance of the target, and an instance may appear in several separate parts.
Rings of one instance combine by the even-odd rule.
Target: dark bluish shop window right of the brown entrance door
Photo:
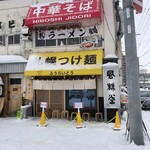
[[[83,102],[84,108],[96,107],[96,90],[68,90],[66,98],[68,108],[73,108],[75,102]]]

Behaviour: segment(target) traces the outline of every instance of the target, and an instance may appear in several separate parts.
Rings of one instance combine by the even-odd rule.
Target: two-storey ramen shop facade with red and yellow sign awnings
[[[83,102],[82,112],[104,113],[103,58],[117,54],[113,0],[26,3],[18,7],[19,46],[28,59],[22,95],[32,101],[33,115],[41,115],[41,102],[49,117],[53,110],[76,111],[75,102]]]

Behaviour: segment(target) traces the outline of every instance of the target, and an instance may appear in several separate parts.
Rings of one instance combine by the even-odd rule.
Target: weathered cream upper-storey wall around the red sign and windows
[[[30,53],[33,52],[47,52],[47,51],[74,51],[74,50],[82,50],[79,46],[70,46],[70,47],[47,47],[47,48],[35,48],[34,40],[23,42],[19,45],[8,45],[8,35],[11,34],[19,34],[22,29],[23,19],[25,19],[28,7],[32,4],[36,3],[36,0],[8,0],[1,1],[0,7],[0,21],[2,21],[2,29],[0,29],[1,35],[6,35],[6,46],[0,46],[0,54],[18,54],[28,57]],[[38,0],[39,3],[49,2],[48,0]],[[104,38],[103,47],[105,49],[105,55],[107,54],[115,54],[116,46],[115,46],[115,22],[114,22],[114,11],[113,11],[113,0],[103,0],[103,22],[99,25],[99,33],[102,34],[102,38]],[[6,11],[7,10],[7,11]],[[107,11],[109,10],[109,11]],[[8,28],[8,22],[10,20],[15,20],[15,28]],[[95,20],[96,21],[96,20]],[[93,24],[92,21],[83,21],[83,26],[89,26]],[[33,32],[32,38],[35,39],[35,34]]]

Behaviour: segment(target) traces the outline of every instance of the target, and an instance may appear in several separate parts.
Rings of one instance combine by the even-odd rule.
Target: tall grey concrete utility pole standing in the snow
[[[138,58],[136,50],[134,10],[132,0],[123,0],[126,75],[129,100],[130,142],[144,145],[141,101],[139,90]]]

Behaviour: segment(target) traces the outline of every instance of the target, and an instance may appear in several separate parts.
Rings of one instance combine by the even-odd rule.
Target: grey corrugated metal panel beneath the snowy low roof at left
[[[23,73],[26,63],[0,64],[0,73]]]

